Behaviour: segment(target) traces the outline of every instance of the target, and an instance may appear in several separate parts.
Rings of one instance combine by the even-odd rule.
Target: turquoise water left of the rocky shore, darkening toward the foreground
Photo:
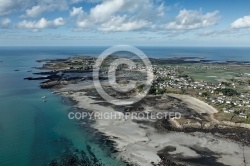
[[[87,145],[101,163],[124,165],[109,155],[109,147],[88,125],[80,128],[68,119],[72,106],[63,103],[66,99],[40,89],[38,81],[23,80],[37,71],[32,68],[39,65],[37,59],[66,56],[35,49],[0,50],[1,166],[48,165],[71,147],[88,155]],[[47,102],[42,102],[42,96],[47,97]]]

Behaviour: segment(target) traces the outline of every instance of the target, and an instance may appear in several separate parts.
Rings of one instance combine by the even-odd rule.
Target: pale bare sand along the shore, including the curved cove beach
[[[84,92],[77,92],[80,89],[89,87],[91,87],[91,84],[88,86],[83,86],[83,84],[70,85],[61,89],[61,92],[65,96],[76,100],[79,108],[103,113],[115,111],[110,107],[98,105],[97,101],[86,96]],[[66,91],[76,92],[70,94]],[[201,112],[216,112],[211,106],[206,105],[206,103],[198,99],[188,98],[186,96],[178,97],[183,98],[191,107],[199,109]],[[196,104],[196,102],[199,104]],[[219,162],[233,166],[244,166],[243,154],[250,156],[249,147],[242,149],[237,143],[216,138],[210,134],[158,133],[154,128],[135,123],[131,119],[97,119],[93,127],[116,143],[120,158],[141,166],[151,166],[151,162],[159,163],[160,158],[157,152],[166,146],[175,146],[177,148],[172,154],[183,153],[183,155],[187,157],[199,156],[188,147],[206,147],[220,154]],[[246,165],[250,166],[249,157],[246,157],[246,162]]]

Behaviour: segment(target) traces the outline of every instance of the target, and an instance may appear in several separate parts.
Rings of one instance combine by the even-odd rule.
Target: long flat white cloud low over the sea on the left
[[[16,27],[20,29],[44,29],[44,28],[56,28],[65,24],[65,21],[62,17],[56,18],[54,20],[46,20],[41,18],[38,21],[27,21],[23,20],[19,22]]]

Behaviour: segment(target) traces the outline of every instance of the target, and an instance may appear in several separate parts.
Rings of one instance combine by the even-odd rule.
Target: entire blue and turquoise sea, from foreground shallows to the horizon
[[[124,165],[110,156],[94,131],[68,119],[71,102],[39,81],[23,78],[38,72],[36,60],[76,55],[98,56],[107,47],[0,47],[0,166],[39,166],[60,158],[70,147],[91,151],[105,165]],[[250,61],[250,48],[139,47],[149,57],[206,57],[215,61]],[[41,97],[46,96],[43,103]],[[105,147],[107,146],[107,147]]]

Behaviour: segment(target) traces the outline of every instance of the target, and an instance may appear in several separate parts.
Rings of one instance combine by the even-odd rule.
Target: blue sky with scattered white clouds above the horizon
[[[0,46],[249,47],[249,0],[0,0]]]

